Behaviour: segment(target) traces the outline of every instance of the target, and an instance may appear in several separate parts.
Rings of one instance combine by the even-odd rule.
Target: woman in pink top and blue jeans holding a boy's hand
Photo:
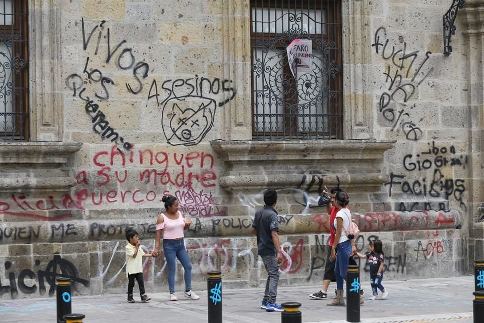
[[[184,230],[192,224],[185,221],[181,212],[178,211],[178,200],[174,196],[163,196],[161,199],[165,203],[165,212],[161,213],[156,222],[156,239],[153,256],[158,256],[160,252],[160,237],[163,236],[163,251],[165,253],[166,264],[168,265],[168,286],[170,287],[170,301],[176,301],[175,295],[175,261],[180,261],[185,274],[185,297],[200,299],[192,291],[192,264],[188,256],[184,243]]]

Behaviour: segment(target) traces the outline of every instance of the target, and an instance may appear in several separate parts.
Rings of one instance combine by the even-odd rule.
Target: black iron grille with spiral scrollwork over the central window
[[[256,33],[252,65],[256,138],[323,139],[335,133],[329,120],[340,95],[336,78],[342,66],[336,55],[341,50],[327,32],[329,23],[323,14],[294,11],[253,21],[261,29]],[[314,58],[312,73],[294,78],[286,47],[296,38],[312,40]]]

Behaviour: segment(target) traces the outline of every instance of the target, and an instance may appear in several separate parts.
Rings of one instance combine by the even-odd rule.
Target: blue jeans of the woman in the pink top
[[[166,264],[168,265],[168,286],[170,293],[175,292],[175,261],[176,258],[180,261],[185,270],[185,291],[192,290],[192,264],[188,256],[187,249],[183,239],[180,240],[166,240],[163,239],[163,252],[165,253]]]

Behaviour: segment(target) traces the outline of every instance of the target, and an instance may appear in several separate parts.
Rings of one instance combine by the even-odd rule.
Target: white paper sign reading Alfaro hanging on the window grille
[[[313,74],[313,42],[311,39],[294,39],[287,46],[287,59],[294,78]]]

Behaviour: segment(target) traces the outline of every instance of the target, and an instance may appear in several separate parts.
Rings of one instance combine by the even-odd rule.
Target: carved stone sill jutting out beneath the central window
[[[225,164],[219,184],[232,194],[256,193],[265,187],[307,187],[315,180],[312,175],[328,187],[340,183],[359,192],[378,192],[387,180],[381,172],[383,153],[394,144],[376,140],[211,142]]]

